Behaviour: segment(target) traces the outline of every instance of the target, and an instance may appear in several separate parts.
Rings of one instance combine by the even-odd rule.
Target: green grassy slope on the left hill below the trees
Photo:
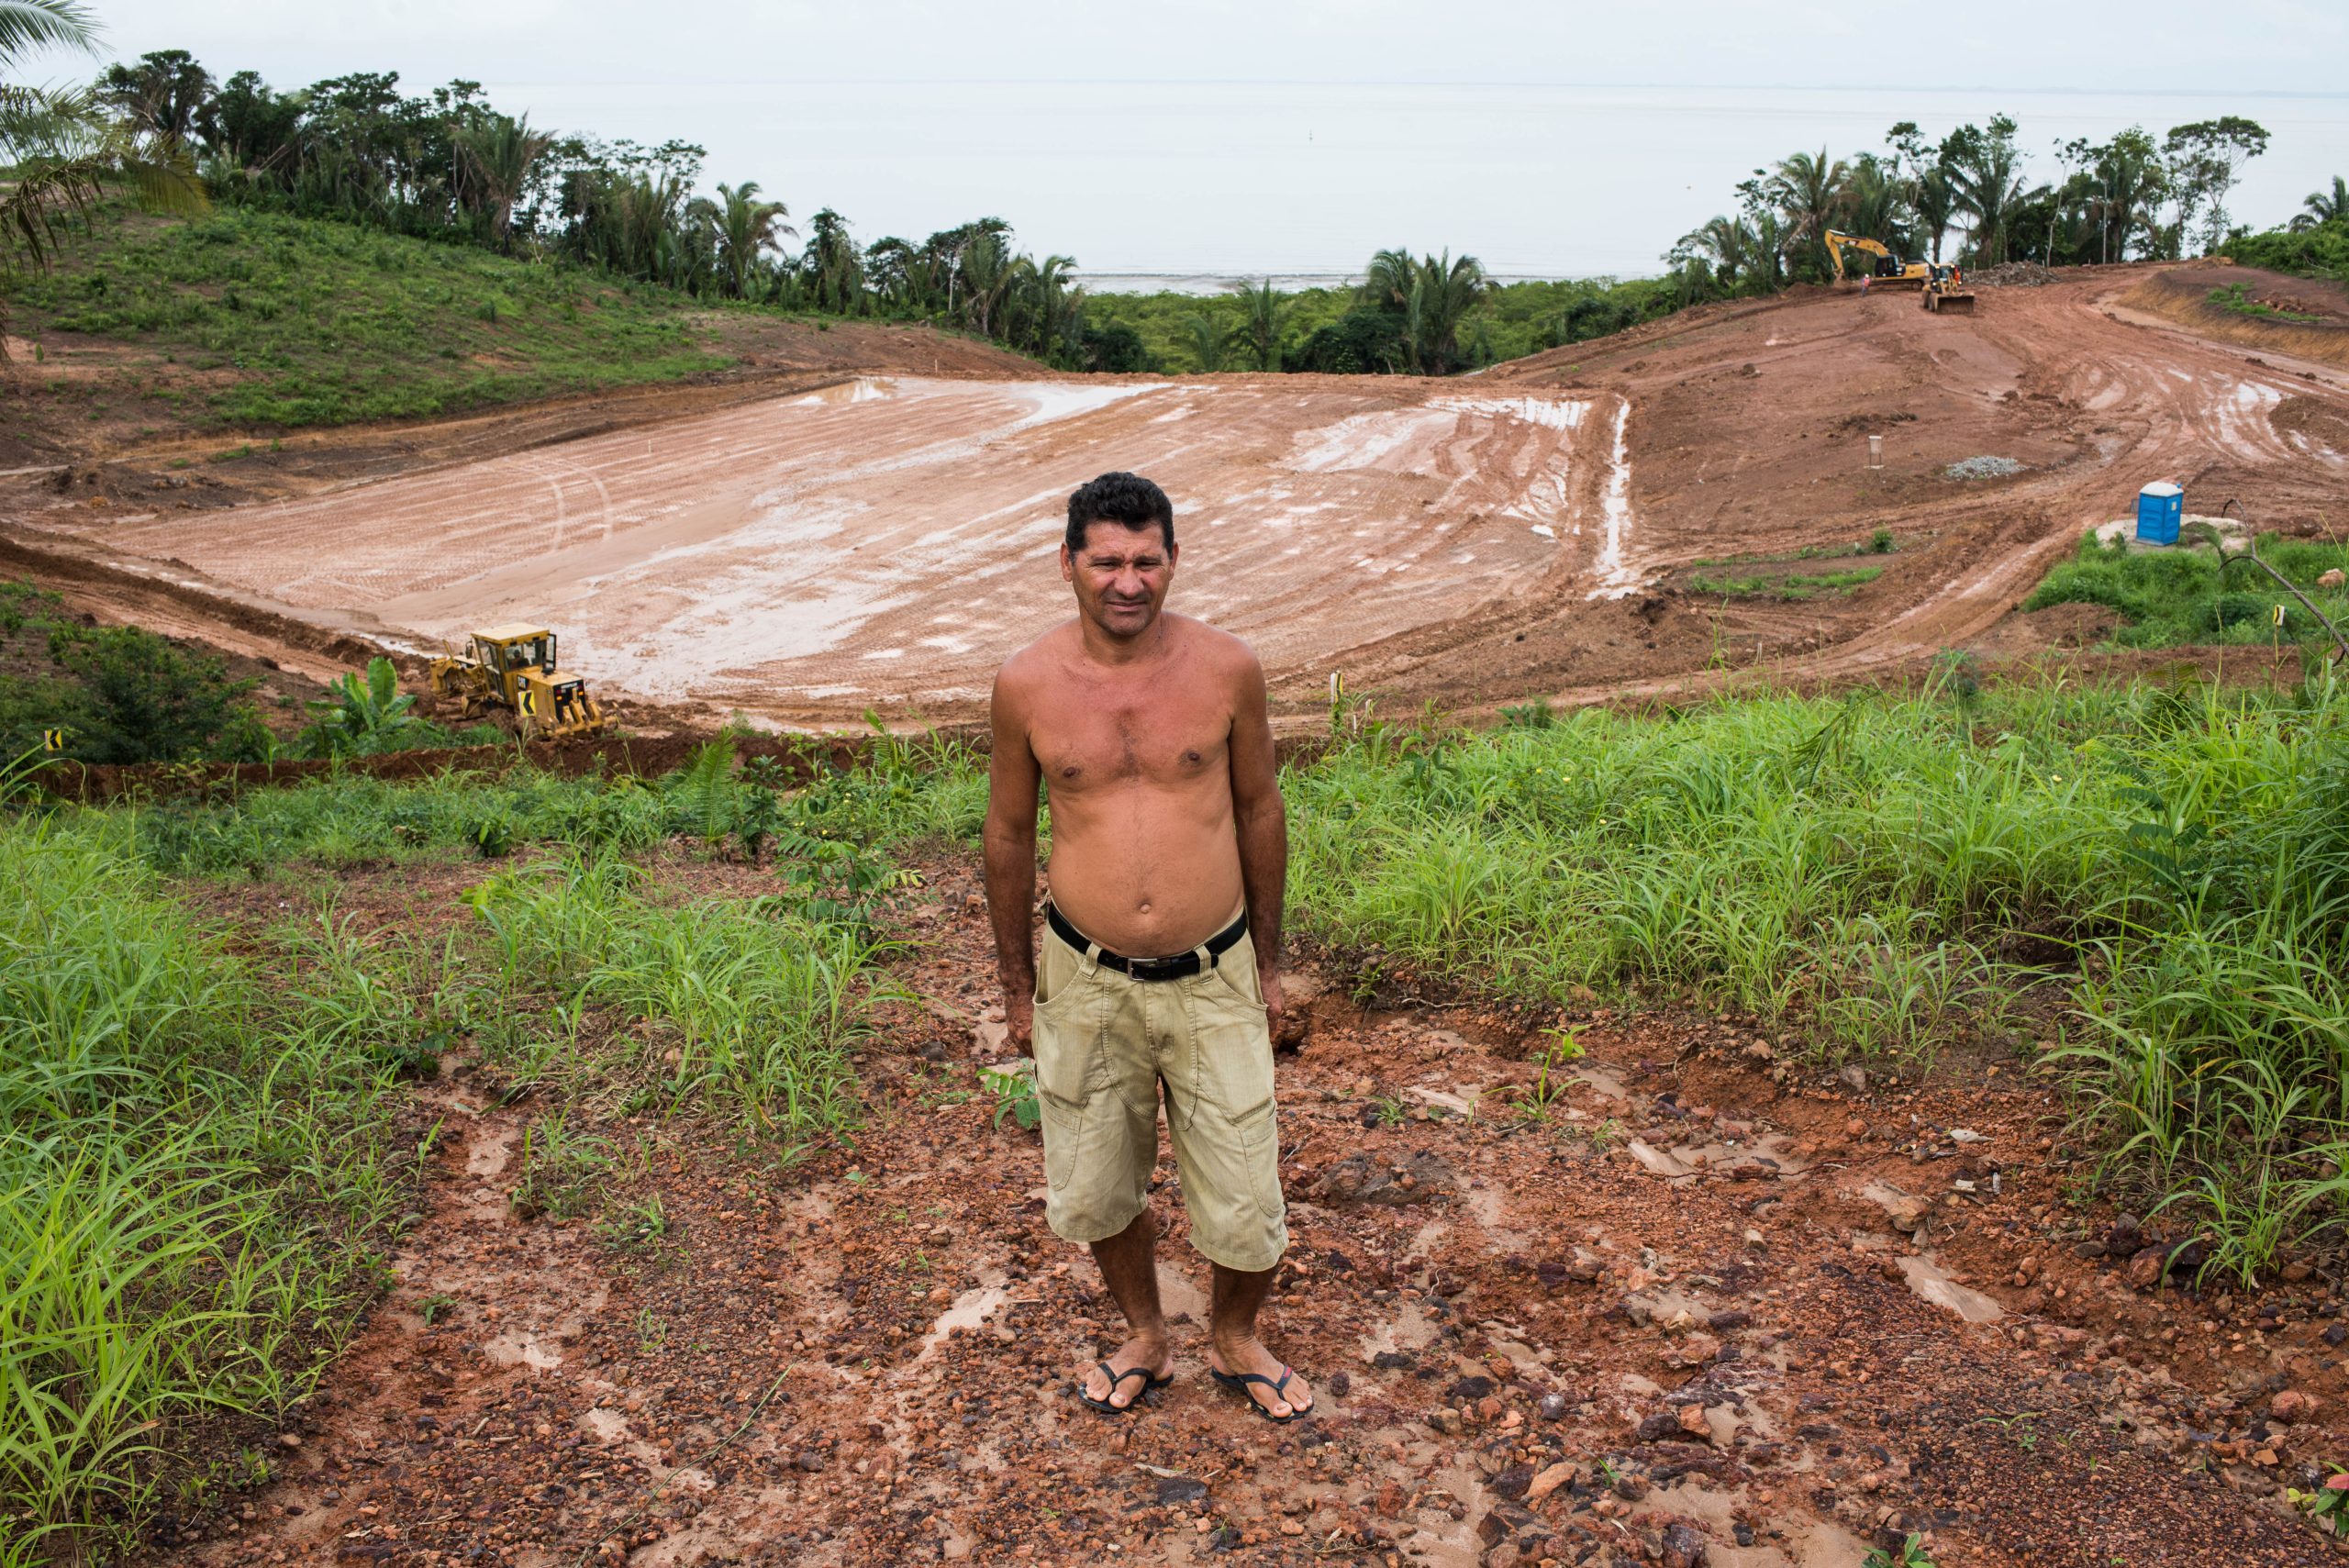
[[[23,366],[89,420],[341,425],[726,366],[719,310],[561,263],[223,209],[103,214],[12,296]]]

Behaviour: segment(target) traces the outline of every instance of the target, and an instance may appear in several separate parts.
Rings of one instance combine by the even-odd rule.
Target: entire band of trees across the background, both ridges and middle
[[[223,80],[186,49],[162,49],[106,68],[54,110],[113,138],[117,171],[176,167],[216,204],[568,263],[712,303],[930,322],[1092,371],[1445,376],[1691,303],[1828,279],[1830,228],[1896,256],[1976,268],[2274,242],[2279,263],[2323,272],[2349,251],[2340,181],[2276,237],[2234,223],[2229,192],[2269,141],[2236,115],[2161,138],[2131,127],[2102,143],[2060,143],[2051,181],[2027,169],[2006,115],[1938,141],[1900,122],[1884,148],[1849,157],[1792,153],[1741,181],[1734,211],[1684,235],[1658,279],[1496,284],[1475,256],[1391,249],[1353,289],[1257,282],[1198,298],[1090,296],[1076,258],[1031,256],[991,216],[923,239],[857,239],[832,207],[801,225],[756,178],[705,185],[705,153],[688,141],[536,127],[465,80],[411,96],[395,73],[350,73],[280,92],[254,70]],[[0,124],[0,141],[19,169],[54,157],[23,127]],[[146,185],[155,183],[150,174]]]

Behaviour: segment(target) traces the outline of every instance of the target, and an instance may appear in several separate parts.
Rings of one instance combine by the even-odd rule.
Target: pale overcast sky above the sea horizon
[[[1315,80],[2340,92],[2342,0],[92,0],[117,54],[282,87],[392,68],[503,82]]]

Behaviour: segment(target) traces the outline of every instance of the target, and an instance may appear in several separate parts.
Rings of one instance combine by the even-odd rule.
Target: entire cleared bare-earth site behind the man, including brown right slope
[[[226,512],[68,488],[14,526],[181,606],[392,648],[543,617],[608,692],[951,721],[1062,613],[1066,491],[1135,467],[1179,507],[1174,606],[1250,636],[1292,711],[1332,669],[1449,707],[1865,678],[1985,636],[2152,479],[2349,530],[2349,378],[2119,303],[2149,277],[1985,289],[1973,317],[1797,291],[1449,383],[862,376]],[[2018,467],[1952,477],[1968,458]],[[1708,589],[1879,528],[1870,582]]]

